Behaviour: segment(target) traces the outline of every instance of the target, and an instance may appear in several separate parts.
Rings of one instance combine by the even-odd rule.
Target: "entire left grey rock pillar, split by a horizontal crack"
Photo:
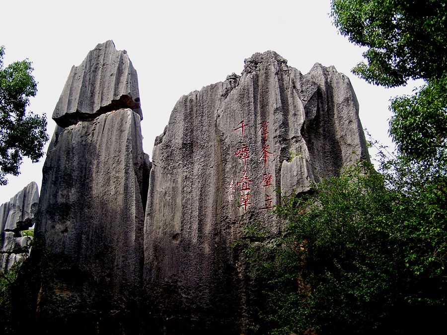
[[[44,317],[60,305],[70,322],[79,313],[104,320],[138,294],[150,169],[139,106],[136,71],[113,42],[72,69],[55,109],[36,227],[71,272],[55,274],[56,288],[42,283]]]

